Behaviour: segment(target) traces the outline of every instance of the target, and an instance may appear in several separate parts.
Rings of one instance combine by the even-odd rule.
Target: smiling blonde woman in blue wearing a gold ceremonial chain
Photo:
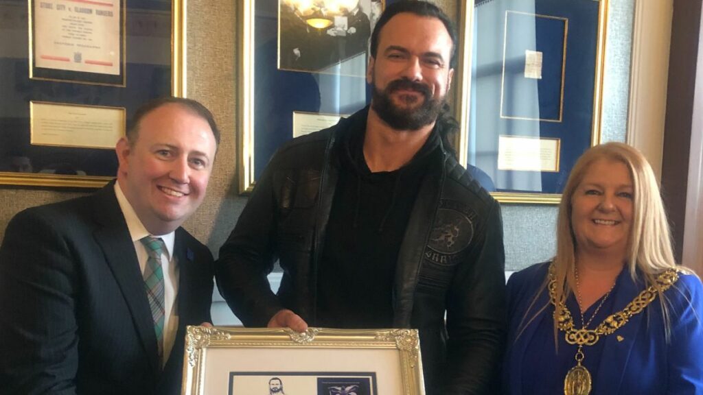
[[[511,276],[506,394],[703,394],[703,288],[676,266],[638,150],[595,146],[569,176],[557,254]]]

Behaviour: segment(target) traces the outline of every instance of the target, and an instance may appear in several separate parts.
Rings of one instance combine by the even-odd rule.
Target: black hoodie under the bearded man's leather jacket
[[[437,128],[411,162],[372,173],[363,156],[366,117],[335,147],[337,188],[318,268],[317,325],[390,328],[396,261],[420,182],[441,155]]]

